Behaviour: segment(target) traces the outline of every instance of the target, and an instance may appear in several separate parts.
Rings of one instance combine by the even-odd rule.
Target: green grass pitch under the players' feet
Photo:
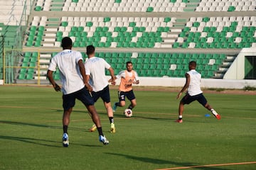
[[[117,108],[111,134],[102,105],[96,108],[110,145],[98,141],[87,111],[76,102],[62,147],[61,93],[48,87],[0,86],[0,169],[164,169],[256,161],[256,96],[205,94],[217,120],[197,102],[178,117],[176,92],[136,91],[137,108],[124,118]],[[111,91],[112,103],[117,91]],[[127,103],[128,106],[128,103]],[[197,169],[256,169],[256,164]]]

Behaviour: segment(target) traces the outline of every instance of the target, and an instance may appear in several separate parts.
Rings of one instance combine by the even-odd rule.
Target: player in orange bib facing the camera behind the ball
[[[139,84],[139,77],[137,72],[135,72],[132,69],[132,62],[127,62],[126,64],[127,69],[122,72],[119,72],[119,74],[116,77],[114,77],[114,79],[121,78],[121,82],[119,84],[118,91],[119,102],[114,103],[113,111],[116,111],[117,106],[125,106],[125,97],[127,97],[129,101],[131,101],[131,104],[128,107],[129,109],[132,110],[132,108],[134,108],[137,105],[136,98],[132,90],[132,84]],[[112,81],[112,79],[110,79],[109,81]]]

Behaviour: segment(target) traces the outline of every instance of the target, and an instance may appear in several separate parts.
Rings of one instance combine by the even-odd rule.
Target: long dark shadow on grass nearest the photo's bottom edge
[[[169,160],[164,160],[164,159],[155,159],[155,158],[149,158],[149,157],[136,157],[136,156],[132,156],[132,155],[128,155],[128,154],[117,154],[117,153],[110,153],[110,152],[105,152],[105,154],[112,154],[115,156],[119,156],[119,157],[124,157],[127,159],[134,159],[136,161],[140,161],[140,162],[145,162],[145,163],[151,163],[151,164],[171,164],[171,165],[176,165],[176,166],[197,166],[198,164],[195,163],[191,163],[191,162],[172,162]],[[168,168],[168,167],[166,167]],[[169,167],[170,168],[170,167]],[[196,167],[196,169],[207,169],[207,170],[225,170],[223,168],[220,167],[209,167],[209,166],[203,166],[202,167]]]

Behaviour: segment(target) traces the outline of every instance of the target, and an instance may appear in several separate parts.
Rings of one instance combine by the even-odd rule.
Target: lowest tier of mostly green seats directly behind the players
[[[18,79],[46,79],[46,72],[51,57],[57,52],[42,53],[38,61],[38,52],[26,52],[21,61]],[[125,69],[125,63],[132,61],[134,69],[140,77],[184,77],[188,70],[188,62],[195,60],[198,72],[203,78],[214,77],[220,64],[226,59],[224,54],[190,54],[190,53],[149,53],[149,52],[97,52],[98,57],[104,58],[114,68],[114,74]],[[82,56],[86,60],[85,52]],[[40,72],[38,72],[38,62]],[[27,67],[27,68],[26,68]],[[109,74],[106,72],[106,74]],[[54,79],[60,79],[59,71],[54,73]]]

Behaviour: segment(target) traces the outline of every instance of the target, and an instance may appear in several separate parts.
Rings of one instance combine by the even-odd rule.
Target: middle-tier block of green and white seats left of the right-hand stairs
[[[159,47],[176,18],[170,17],[65,17],[55,28],[46,28],[50,18],[34,16],[26,46],[59,47],[65,36],[74,47]]]

